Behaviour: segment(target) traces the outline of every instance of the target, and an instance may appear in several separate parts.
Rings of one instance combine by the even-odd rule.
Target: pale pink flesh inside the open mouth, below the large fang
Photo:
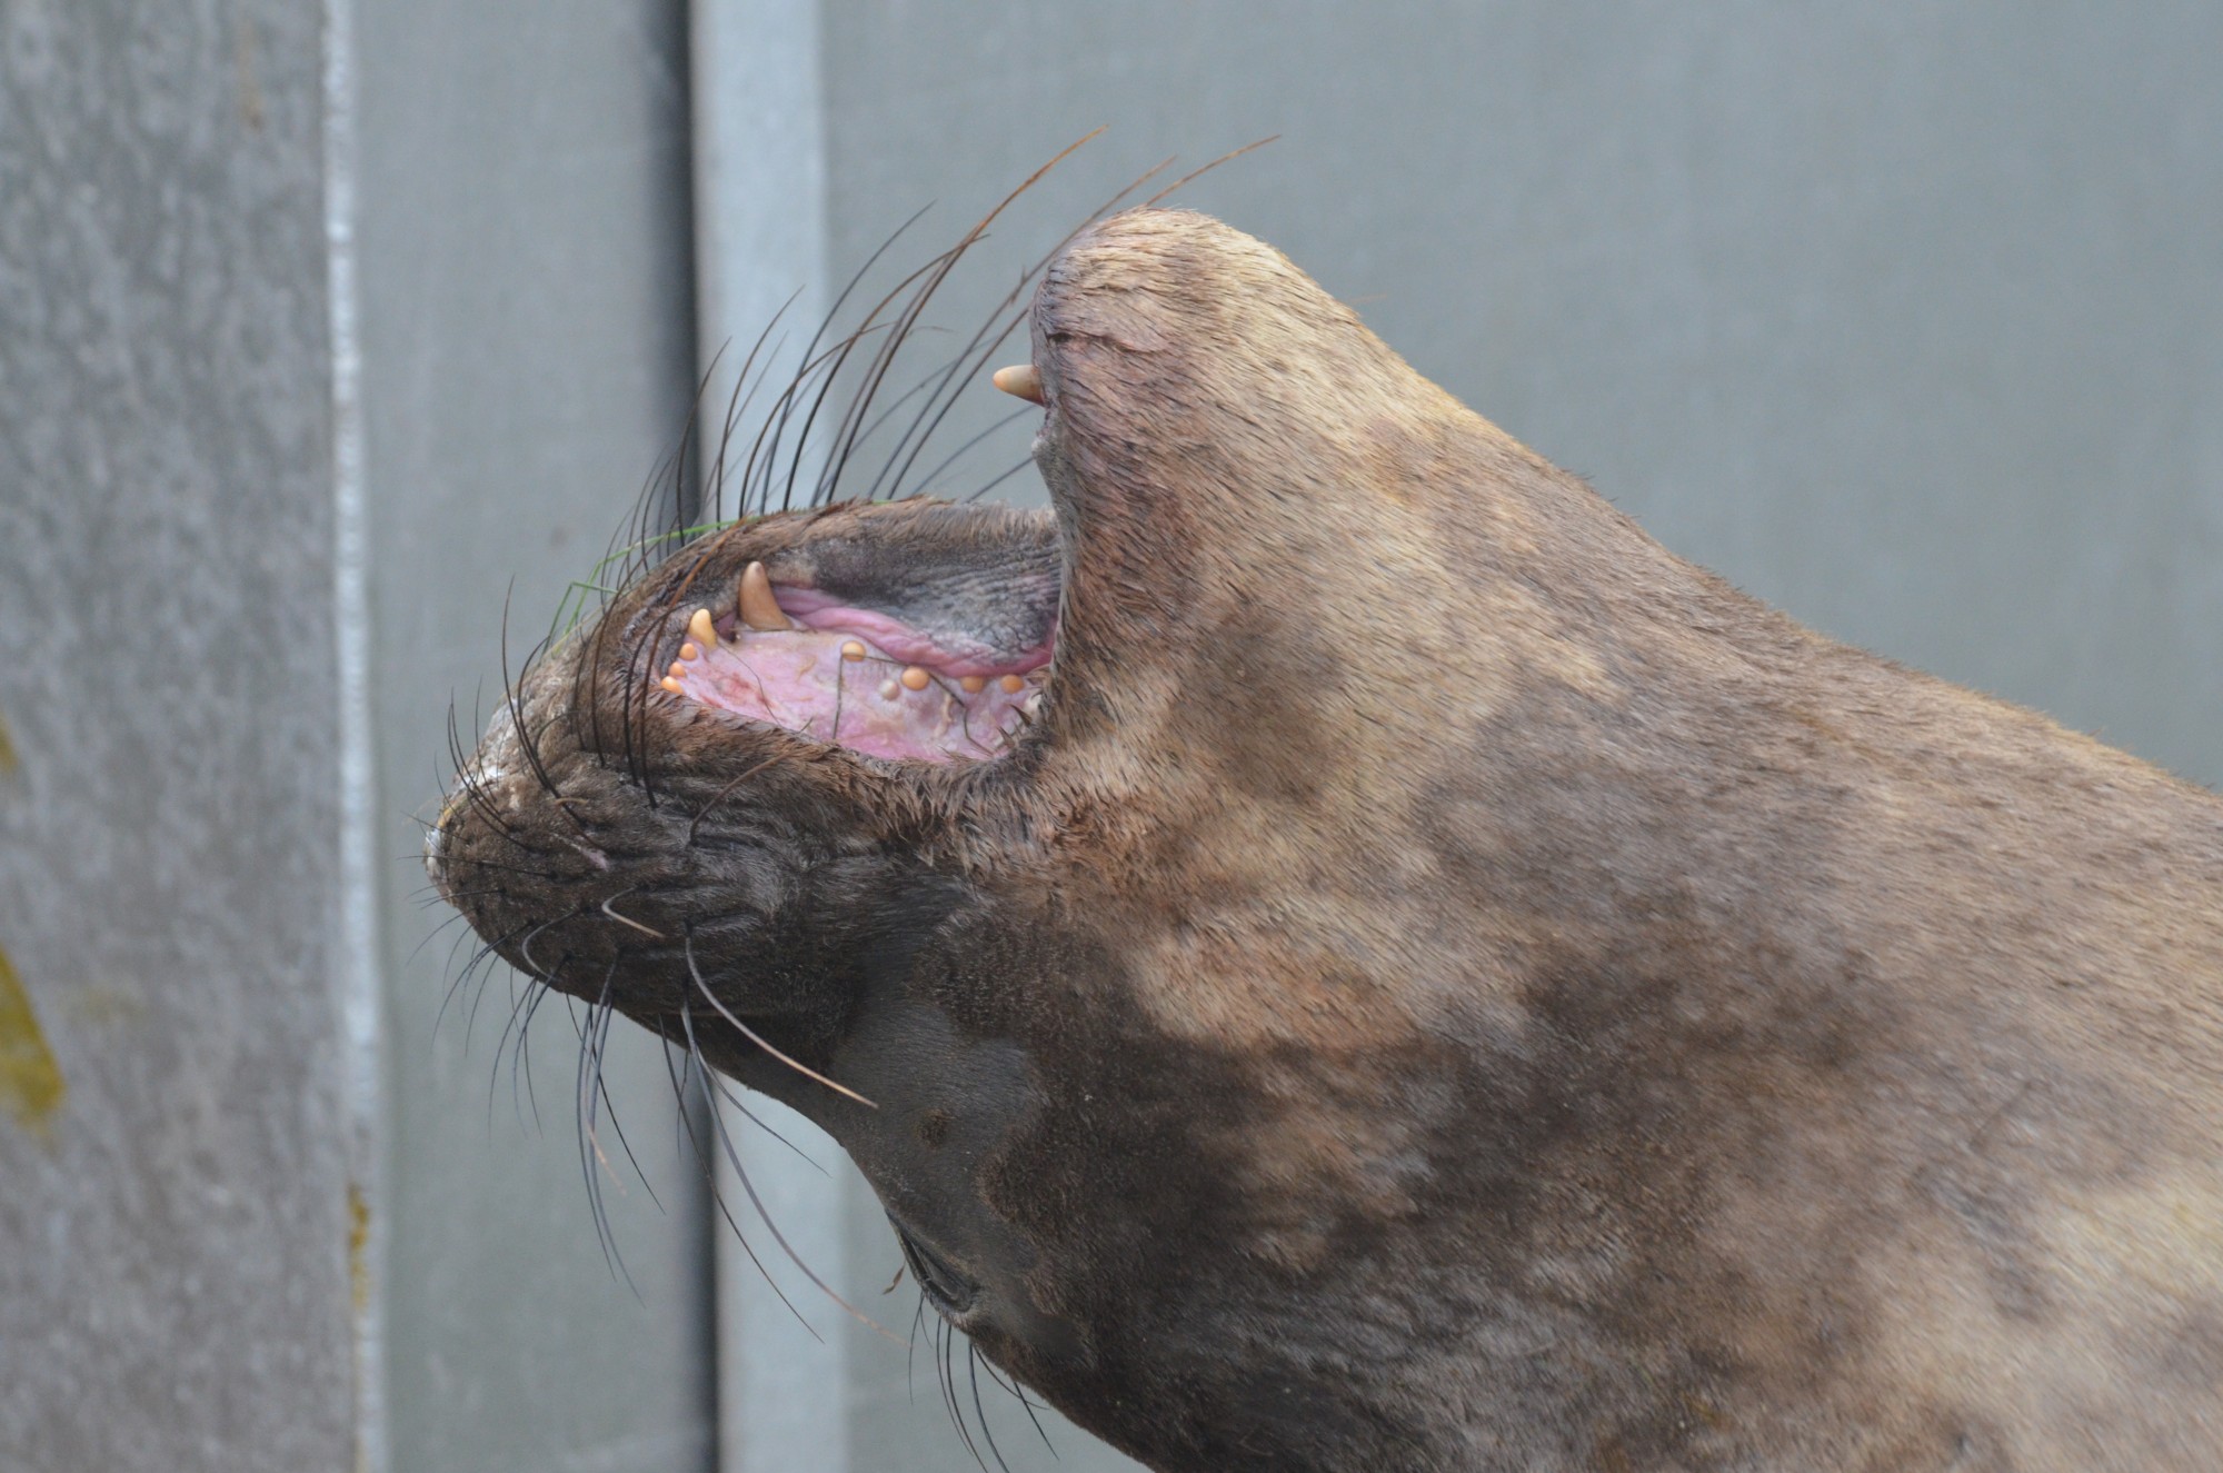
[[[814,610],[827,619],[834,610]],[[867,757],[914,761],[980,761],[1003,754],[1020,725],[1018,708],[1036,685],[1005,690],[987,676],[980,690],[960,683],[965,670],[945,674],[920,661],[943,659],[916,632],[869,610],[840,610],[843,627],[796,627],[778,634],[738,630],[738,639],[698,652],[671,668],[680,694],[749,721],[767,721],[816,741],[834,741]],[[798,623],[811,621],[794,614]],[[865,636],[865,621],[889,625],[898,647]],[[843,645],[865,647],[865,659],[843,659]],[[916,652],[916,654],[911,654]],[[911,690],[925,674],[925,685]],[[985,672],[980,672],[985,674]]]

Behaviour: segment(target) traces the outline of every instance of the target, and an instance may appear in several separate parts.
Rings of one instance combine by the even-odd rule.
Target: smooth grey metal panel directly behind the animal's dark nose
[[[453,930],[422,908],[411,812],[589,579],[694,387],[685,27],[676,2],[356,13],[365,501],[378,710],[391,1155],[391,1466],[711,1466],[709,1235],[660,1052],[614,1035],[631,1153],[596,1161],[631,1286],[598,1246],[560,1001],[520,983],[440,1019]],[[660,1204],[660,1206],[658,1206]],[[638,1293],[636,1293],[638,1291]]]

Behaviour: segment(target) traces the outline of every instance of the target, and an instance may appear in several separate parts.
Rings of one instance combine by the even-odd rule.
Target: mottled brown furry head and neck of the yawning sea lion
[[[431,837],[500,955],[816,1117],[1154,1469],[2223,1466],[2223,801],[1674,558],[1214,220],[1031,332],[1054,530],[751,521],[520,683]],[[1007,754],[651,683],[814,550],[1054,607]]]

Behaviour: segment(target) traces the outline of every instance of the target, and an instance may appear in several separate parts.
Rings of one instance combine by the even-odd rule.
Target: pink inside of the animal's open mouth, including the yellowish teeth
[[[903,761],[987,761],[1040,710],[1054,632],[1029,647],[909,623],[747,563],[731,607],[696,607],[660,683],[694,705]]]

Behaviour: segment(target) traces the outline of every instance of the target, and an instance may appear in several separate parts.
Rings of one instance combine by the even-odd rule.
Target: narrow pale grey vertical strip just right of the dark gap
[[[825,245],[827,176],[847,160],[825,151],[820,7],[809,0],[698,0],[694,13],[700,336],[711,385],[707,403],[722,405],[738,360],[782,305],[787,343],[769,374],[771,392],[785,383],[834,287],[869,249],[829,258]],[[925,202],[914,196],[916,189],[889,200],[878,220],[883,231]],[[918,256],[940,249],[954,234],[956,227],[943,229],[943,238],[923,229]],[[916,260],[905,260],[889,276],[911,265]],[[1007,287],[1005,278],[996,289]],[[871,289],[858,294],[858,300],[871,298]],[[965,434],[951,429],[943,443],[960,443]],[[871,1324],[831,1304],[785,1262],[731,1173],[722,1173],[720,1186],[754,1255],[720,1228],[720,1466],[974,1469],[974,1453],[943,1411],[931,1326],[918,1331],[916,1355],[909,1348],[916,1293],[905,1284],[889,1295],[903,1259],[871,1188],[800,1115],[760,1099],[749,1108],[796,1146],[789,1150],[756,1121],[729,1119],[742,1166],[780,1235]],[[963,1366],[958,1375],[965,1386]],[[994,1388],[989,1393],[1011,1466],[1054,1462],[1025,1413]],[[1087,1437],[1054,1413],[1043,1413],[1043,1422],[1069,1457],[1056,1466],[1132,1466],[1107,1453],[1071,1462]],[[985,1442],[980,1446],[985,1451]]]

